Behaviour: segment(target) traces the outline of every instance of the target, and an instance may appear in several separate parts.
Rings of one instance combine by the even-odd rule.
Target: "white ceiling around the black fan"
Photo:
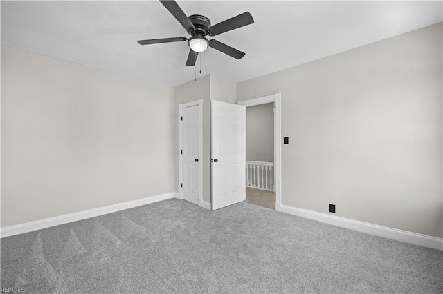
[[[201,75],[235,82],[442,21],[442,1],[177,2],[213,24],[251,12],[252,25],[208,38],[246,56],[208,48],[201,62]],[[189,36],[159,1],[1,1],[3,45],[168,86],[194,79],[195,68],[185,67],[186,42],[136,42],[163,37]]]

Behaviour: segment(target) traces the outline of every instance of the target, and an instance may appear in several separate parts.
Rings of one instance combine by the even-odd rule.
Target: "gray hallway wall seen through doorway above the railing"
[[[246,107],[246,160],[274,162],[274,104]]]

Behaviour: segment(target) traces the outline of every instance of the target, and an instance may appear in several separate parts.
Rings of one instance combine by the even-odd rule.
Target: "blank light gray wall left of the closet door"
[[[1,226],[174,192],[174,89],[1,47]]]

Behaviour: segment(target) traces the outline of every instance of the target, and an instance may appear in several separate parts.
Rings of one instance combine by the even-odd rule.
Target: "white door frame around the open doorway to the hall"
[[[282,93],[237,101],[241,106],[256,106],[275,102],[274,116],[274,172],[275,210],[282,211]]]

